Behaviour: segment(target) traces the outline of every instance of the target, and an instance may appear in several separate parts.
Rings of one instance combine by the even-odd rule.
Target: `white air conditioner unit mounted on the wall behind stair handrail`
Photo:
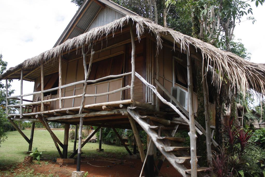
[[[171,87],[171,95],[177,99],[185,110],[188,110],[188,92],[180,87]],[[171,103],[176,106],[176,103],[171,100]]]

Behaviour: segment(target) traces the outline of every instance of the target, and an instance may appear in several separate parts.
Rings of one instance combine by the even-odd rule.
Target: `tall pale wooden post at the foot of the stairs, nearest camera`
[[[194,121],[194,107],[193,107],[193,83],[192,83],[192,63],[189,55],[189,48],[187,48],[187,69],[188,69],[188,104],[189,104],[189,137],[191,140],[191,176],[197,177],[197,156],[196,156],[196,130]]]

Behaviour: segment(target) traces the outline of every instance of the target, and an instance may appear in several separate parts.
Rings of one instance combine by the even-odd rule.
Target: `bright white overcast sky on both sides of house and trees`
[[[257,21],[252,24],[243,18],[234,34],[252,54],[252,62],[265,63],[265,5],[256,8],[253,2],[251,6]],[[8,62],[7,68],[51,49],[77,9],[70,0],[0,1],[0,53]],[[33,86],[33,82],[23,81],[23,94],[33,92]],[[14,80],[14,95],[20,94],[19,88],[20,81]]]

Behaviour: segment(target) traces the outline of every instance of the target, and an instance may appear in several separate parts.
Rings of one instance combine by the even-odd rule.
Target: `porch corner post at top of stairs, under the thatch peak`
[[[131,33],[131,42],[132,42],[132,79],[131,79],[131,100],[134,99],[134,78],[135,78],[135,41],[134,41],[134,32],[133,26],[130,24],[130,33]]]

